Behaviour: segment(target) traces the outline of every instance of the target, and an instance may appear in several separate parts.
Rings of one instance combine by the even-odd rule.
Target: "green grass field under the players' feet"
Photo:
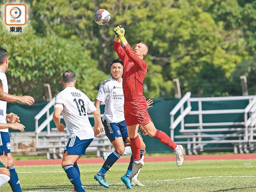
[[[110,188],[93,179],[101,164],[80,164],[81,180],[87,192],[256,192],[256,160],[185,161],[178,168],[175,162],[145,163],[139,179],[145,187],[127,189],[120,177],[127,163],[116,163],[106,174]],[[73,189],[59,166],[16,167],[23,192],[71,192]],[[11,192],[9,184],[0,192]]]

